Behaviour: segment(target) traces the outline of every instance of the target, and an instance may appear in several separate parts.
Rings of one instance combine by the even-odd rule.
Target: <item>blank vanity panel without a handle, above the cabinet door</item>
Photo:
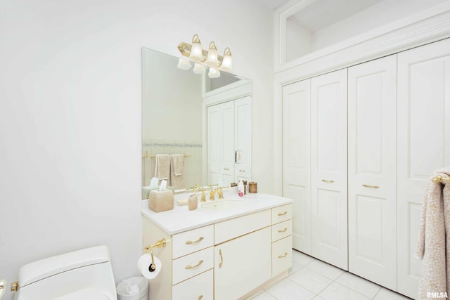
[[[270,209],[214,224],[214,244],[270,226]]]

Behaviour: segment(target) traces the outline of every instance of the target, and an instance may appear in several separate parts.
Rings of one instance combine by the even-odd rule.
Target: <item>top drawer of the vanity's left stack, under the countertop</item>
[[[214,244],[214,225],[173,235],[172,243],[172,259],[211,247]]]

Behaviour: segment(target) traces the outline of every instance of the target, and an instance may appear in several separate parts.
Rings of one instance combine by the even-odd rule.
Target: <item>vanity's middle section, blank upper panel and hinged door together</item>
[[[214,299],[238,299],[271,278],[270,225],[270,209],[214,225]]]

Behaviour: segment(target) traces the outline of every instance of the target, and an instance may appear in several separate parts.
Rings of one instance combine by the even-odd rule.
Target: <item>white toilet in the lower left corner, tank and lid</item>
[[[19,270],[15,300],[117,300],[106,246],[28,263]]]

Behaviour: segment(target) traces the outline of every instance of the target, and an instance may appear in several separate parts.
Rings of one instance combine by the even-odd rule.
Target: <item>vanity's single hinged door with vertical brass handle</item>
[[[271,278],[270,227],[214,247],[214,299],[239,299]]]

